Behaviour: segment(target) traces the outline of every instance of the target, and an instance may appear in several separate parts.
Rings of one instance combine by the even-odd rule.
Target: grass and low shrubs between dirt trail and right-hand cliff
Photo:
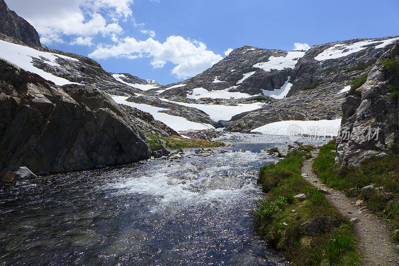
[[[329,187],[345,192],[347,196],[362,198],[370,211],[390,220],[392,228],[399,229],[399,155],[370,158],[361,167],[335,165],[335,140],[320,148],[313,170]],[[360,188],[374,184],[377,189],[361,192]],[[399,243],[399,235],[393,240]]]

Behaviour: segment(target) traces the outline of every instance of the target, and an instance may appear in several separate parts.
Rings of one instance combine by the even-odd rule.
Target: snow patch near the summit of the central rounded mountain
[[[272,69],[283,70],[284,68],[294,68],[298,59],[305,55],[305,52],[289,51],[284,56],[270,56],[269,61],[254,64],[253,67],[261,68],[268,72]]]

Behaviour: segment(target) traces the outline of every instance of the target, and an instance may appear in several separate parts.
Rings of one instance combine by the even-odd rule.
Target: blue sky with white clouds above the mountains
[[[161,84],[252,45],[307,49],[399,35],[399,0],[5,0],[49,48]]]

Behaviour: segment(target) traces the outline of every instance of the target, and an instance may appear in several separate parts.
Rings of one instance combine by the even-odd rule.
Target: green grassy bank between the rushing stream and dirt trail
[[[260,168],[258,183],[268,197],[252,212],[255,228],[292,265],[360,265],[352,224],[301,176],[303,160],[309,157],[307,151],[289,153],[277,164]],[[295,199],[294,195],[300,193],[307,198]],[[301,224],[318,216],[332,216],[339,225],[309,236]]]

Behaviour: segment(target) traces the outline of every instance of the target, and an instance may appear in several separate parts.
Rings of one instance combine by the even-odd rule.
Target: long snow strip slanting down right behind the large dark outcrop
[[[151,105],[146,105],[146,104],[136,104],[136,103],[131,103],[126,101],[129,97],[127,96],[114,96],[111,95],[112,99],[114,99],[115,102],[118,104],[123,104],[127,105],[130,107],[135,107],[141,111],[150,113],[154,119],[159,120],[163,122],[165,125],[168,127],[174,129],[175,131],[188,131],[188,130],[208,130],[208,129],[214,129],[213,126],[209,124],[201,124],[201,123],[196,123],[196,122],[191,122],[185,118],[182,117],[176,117],[176,116],[171,116],[165,113],[160,113],[159,111],[165,111],[168,109],[165,108],[159,108],[159,107],[154,107]]]

